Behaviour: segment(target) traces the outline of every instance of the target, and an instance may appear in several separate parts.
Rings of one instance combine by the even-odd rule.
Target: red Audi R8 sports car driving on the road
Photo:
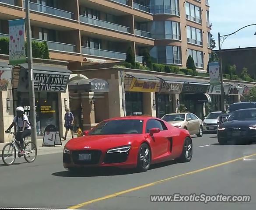
[[[114,166],[145,172],[151,164],[192,158],[189,132],[151,116],[107,119],[84,133],[65,145],[64,168]]]

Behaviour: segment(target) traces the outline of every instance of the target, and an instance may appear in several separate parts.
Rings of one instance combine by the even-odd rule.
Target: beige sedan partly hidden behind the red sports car
[[[188,130],[190,135],[203,136],[203,121],[190,112],[166,114],[161,118],[172,126]]]

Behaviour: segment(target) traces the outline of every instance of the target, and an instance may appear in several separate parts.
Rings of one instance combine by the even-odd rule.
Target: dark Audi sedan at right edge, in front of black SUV
[[[218,142],[227,144],[228,140],[249,144],[256,140],[256,109],[239,109],[218,127]]]

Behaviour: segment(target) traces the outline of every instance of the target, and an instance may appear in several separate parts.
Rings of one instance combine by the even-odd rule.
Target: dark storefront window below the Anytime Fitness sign
[[[14,89],[13,96],[14,108],[23,106],[25,114],[30,118],[28,93],[17,92],[17,89]],[[57,93],[35,92],[35,106],[36,131],[38,135],[42,135],[48,125],[60,127]]]

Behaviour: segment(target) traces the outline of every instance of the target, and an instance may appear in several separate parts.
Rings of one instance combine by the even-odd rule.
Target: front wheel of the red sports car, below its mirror
[[[138,152],[137,171],[146,172],[151,163],[151,150],[150,147],[143,143],[140,145]]]

